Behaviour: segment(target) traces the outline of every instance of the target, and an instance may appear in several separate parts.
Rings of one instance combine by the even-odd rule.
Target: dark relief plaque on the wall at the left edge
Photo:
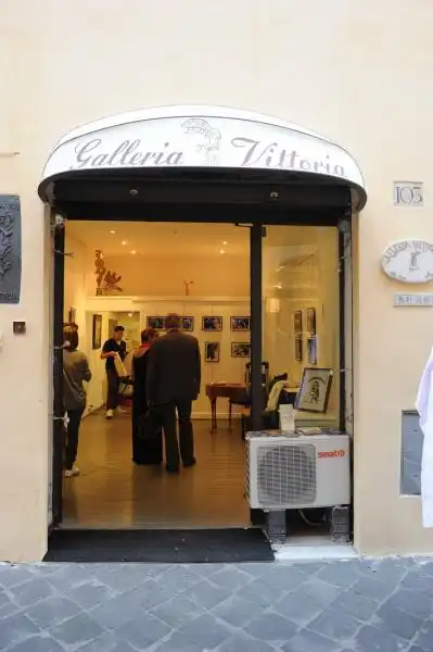
[[[20,303],[21,206],[16,195],[0,195],[0,303]]]

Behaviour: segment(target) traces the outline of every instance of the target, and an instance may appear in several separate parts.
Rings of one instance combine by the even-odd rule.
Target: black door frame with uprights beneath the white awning
[[[178,179],[177,179],[178,180]],[[259,430],[263,423],[264,392],[262,380],[263,348],[263,237],[265,225],[338,226],[347,214],[352,214],[347,188],[341,186],[310,184],[269,184],[269,180],[254,184],[213,183],[206,186],[203,180],[189,184],[175,183],[173,187],[157,184],[155,188],[145,185],[144,200],[135,201],[130,195],[131,181],[125,179],[113,184],[106,175],[100,184],[95,179],[79,177],[75,181],[59,184],[56,198],[51,210],[52,218],[63,215],[81,221],[139,221],[139,222],[213,222],[243,223],[250,227],[250,280],[251,280],[251,394],[252,427]],[[135,188],[140,183],[135,183]],[[218,179],[216,179],[218,181]],[[116,186],[116,188],[114,188]],[[246,188],[246,186],[249,186]],[[79,190],[79,192],[77,192]],[[212,192],[211,192],[212,191]],[[212,201],[208,201],[208,196]],[[106,195],[109,193],[109,195]],[[140,188],[138,189],[140,196]],[[275,197],[277,196],[277,197]],[[193,201],[191,201],[191,197]],[[207,199],[207,201],[205,201]],[[52,220],[52,223],[55,221]],[[63,322],[64,322],[64,246],[65,229],[58,226],[54,233],[54,451],[52,478],[52,526],[62,522],[62,468],[65,427],[63,422]],[[344,275],[340,275],[340,299],[344,300]],[[340,365],[344,368],[344,302],[340,304]],[[344,383],[340,385],[340,425],[344,426]],[[343,419],[343,421],[342,421]]]

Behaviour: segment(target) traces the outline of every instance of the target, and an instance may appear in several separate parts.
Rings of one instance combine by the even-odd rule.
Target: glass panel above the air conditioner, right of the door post
[[[262,361],[268,363],[270,383],[284,379],[285,398],[294,402],[304,377],[315,383],[319,379],[317,383],[324,387],[331,376],[323,410],[319,409],[319,398],[310,393],[307,400],[313,403],[296,412],[296,425],[339,428],[342,349],[338,228],[267,226],[262,287]]]

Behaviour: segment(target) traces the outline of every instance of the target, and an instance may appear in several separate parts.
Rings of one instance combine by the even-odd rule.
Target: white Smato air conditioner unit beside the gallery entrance
[[[348,435],[246,436],[251,509],[292,510],[351,503]]]

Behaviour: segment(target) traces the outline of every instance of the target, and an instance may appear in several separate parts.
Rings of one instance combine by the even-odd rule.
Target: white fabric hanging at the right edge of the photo
[[[421,376],[416,408],[424,435],[421,463],[422,525],[433,527],[433,349]]]

